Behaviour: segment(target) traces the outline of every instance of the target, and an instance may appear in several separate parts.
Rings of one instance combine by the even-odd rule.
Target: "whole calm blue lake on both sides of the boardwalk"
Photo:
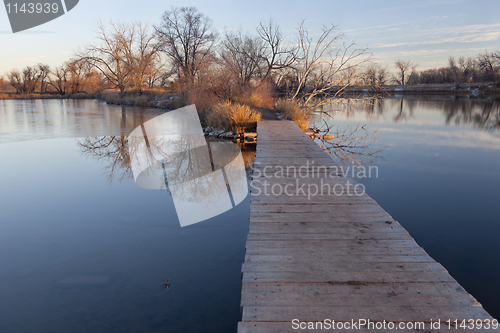
[[[314,121],[366,125],[374,155],[355,157],[378,167],[368,194],[499,318],[498,103],[386,98],[349,110]],[[181,228],[169,192],[137,186],[124,150],[161,114],[0,101],[0,332],[236,330],[249,196]]]

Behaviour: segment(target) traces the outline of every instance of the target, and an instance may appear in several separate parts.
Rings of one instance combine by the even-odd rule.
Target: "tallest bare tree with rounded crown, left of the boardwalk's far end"
[[[194,82],[217,39],[212,21],[195,7],[172,7],[161,20],[155,26],[161,50],[181,79]]]

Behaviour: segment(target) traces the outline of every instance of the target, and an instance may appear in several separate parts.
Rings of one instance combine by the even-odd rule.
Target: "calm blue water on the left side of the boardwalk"
[[[181,228],[123,146],[159,114],[0,101],[0,332],[236,330],[249,197]]]

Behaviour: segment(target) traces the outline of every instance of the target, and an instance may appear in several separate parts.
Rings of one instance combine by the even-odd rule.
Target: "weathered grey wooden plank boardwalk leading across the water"
[[[322,331],[293,330],[294,319],[425,323],[397,332],[450,332],[448,319],[493,320],[373,199],[329,195],[325,184],[340,194],[355,182],[325,174],[320,166],[334,172],[333,160],[293,122],[261,121],[257,132],[238,332]],[[314,185],[324,186],[323,195],[308,196]],[[441,329],[431,329],[439,319]]]

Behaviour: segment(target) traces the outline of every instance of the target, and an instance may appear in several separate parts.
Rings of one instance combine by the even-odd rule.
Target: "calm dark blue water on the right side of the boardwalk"
[[[385,149],[367,193],[495,318],[500,318],[500,105],[486,99],[387,98],[350,113]],[[363,130],[360,131],[364,133]],[[363,159],[363,157],[362,157]]]

